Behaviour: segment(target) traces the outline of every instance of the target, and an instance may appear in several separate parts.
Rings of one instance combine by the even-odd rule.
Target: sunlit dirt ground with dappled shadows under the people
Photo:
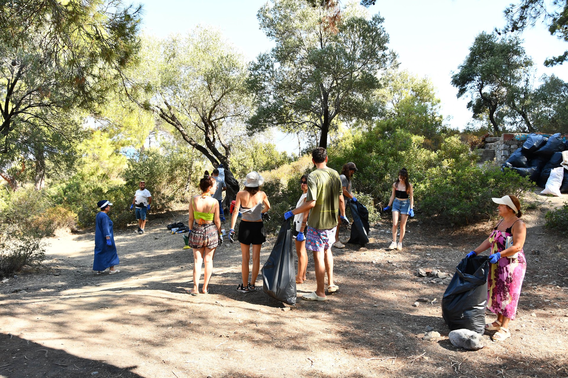
[[[0,284],[0,377],[566,377],[568,239],[542,222],[566,198],[538,198],[525,218],[527,275],[504,343],[452,346],[441,318],[445,285],[415,275],[416,267],[453,273],[491,222],[454,231],[412,220],[404,250],[391,252],[385,219],[366,248],[334,249],[339,292],[283,311],[261,279],[256,292],[235,291],[237,244],[216,253],[210,295],[186,294],[193,257],[166,232],[185,219],[174,212],[151,216],[145,235],[116,235],[119,274],[93,275],[94,235],[85,232],[49,240],[44,270]],[[310,257],[299,295],[314,290],[312,270]],[[413,307],[417,298],[437,301]],[[423,341],[426,326],[442,337]]]

